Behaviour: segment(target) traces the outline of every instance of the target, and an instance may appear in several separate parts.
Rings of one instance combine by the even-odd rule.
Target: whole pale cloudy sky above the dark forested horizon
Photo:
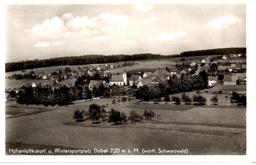
[[[5,62],[246,47],[244,4],[6,5]]]

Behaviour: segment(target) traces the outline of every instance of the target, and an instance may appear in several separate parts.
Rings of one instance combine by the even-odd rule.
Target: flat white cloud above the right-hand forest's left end
[[[180,39],[182,37],[187,36],[186,32],[182,32],[182,31],[178,31],[175,33],[167,33],[166,31],[162,31],[160,32],[158,35],[156,35],[155,38],[157,38],[158,40],[162,41],[162,42],[167,42],[167,41],[174,41],[177,39]],[[150,35],[149,38],[152,38],[153,36]]]

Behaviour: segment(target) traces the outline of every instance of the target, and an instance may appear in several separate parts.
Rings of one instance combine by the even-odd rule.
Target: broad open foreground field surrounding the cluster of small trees
[[[112,99],[80,102],[54,107],[52,111],[48,112],[5,119],[6,142],[13,142],[13,145],[18,148],[19,144],[16,143],[21,141],[20,148],[45,146],[50,149],[52,146],[62,146],[62,148],[85,149],[108,148],[108,151],[110,148],[126,151],[133,148],[139,150],[142,148],[156,150],[158,148],[165,148],[165,150],[187,148],[188,155],[246,154],[246,129],[244,129],[246,108],[214,108],[214,106],[212,106],[213,108],[187,108],[186,105],[182,105],[186,107],[186,110],[178,111],[161,109],[161,105],[152,104],[150,106],[156,106],[156,108],[150,108],[161,117],[155,117],[152,120],[144,119],[135,124],[130,124],[128,121],[120,125],[100,122],[93,125],[91,120],[75,122],[73,120],[74,110],[87,109],[88,105],[94,101],[98,104],[106,104]],[[133,99],[133,101],[136,100]],[[144,107],[140,105],[116,106],[115,109],[125,111],[126,114],[129,114],[132,109],[140,115],[144,111]],[[137,155],[142,153],[119,154]],[[171,153],[150,153],[150,155],[155,154],[168,155]]]

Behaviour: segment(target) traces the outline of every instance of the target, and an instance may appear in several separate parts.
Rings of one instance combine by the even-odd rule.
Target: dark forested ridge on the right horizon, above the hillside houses
[[[219,55],[219,54],[238,54],[238,53],[246,53],[246,48],[244,47],[236,47],[236,48],[218,48],[218,49],[207,49],[207,50],[195,50],[195,51],[187,51],[181,52],[180,57],[189,57],[189,56],[207,56],[207,55]]]

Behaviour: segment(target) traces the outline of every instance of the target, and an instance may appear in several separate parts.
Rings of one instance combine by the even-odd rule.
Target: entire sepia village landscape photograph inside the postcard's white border
[[[247,8],[5,4],[5,160],[251,155]]]

